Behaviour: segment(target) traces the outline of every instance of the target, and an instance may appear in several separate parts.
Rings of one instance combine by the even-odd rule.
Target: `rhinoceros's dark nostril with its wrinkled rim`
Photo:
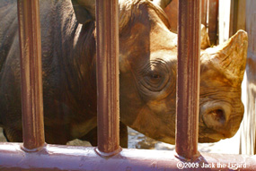
[[[207,128],[218,133],[224,133],[229,121],[231,107],[225,103],[207,103],[202,107],[201,116]],[[229,133],[225,133],[229,134]],[[228,136],[228,135],[227,135]]]

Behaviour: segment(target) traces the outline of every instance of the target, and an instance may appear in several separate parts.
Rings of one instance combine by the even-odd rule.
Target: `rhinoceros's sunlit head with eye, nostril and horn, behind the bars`
[[[174,143],[177,35],[169,30],[164,4],[119,1],[120,116],[138,132]],[[201,142],[231,137],[241,123],[246,48],[247,34],[239,31],[224,45],[201,52]]]

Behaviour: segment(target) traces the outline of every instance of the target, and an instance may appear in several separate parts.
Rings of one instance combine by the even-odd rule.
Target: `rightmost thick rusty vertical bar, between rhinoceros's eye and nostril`
[[[176,147],[182,158],[198,155],[200,0],[179,1]]]

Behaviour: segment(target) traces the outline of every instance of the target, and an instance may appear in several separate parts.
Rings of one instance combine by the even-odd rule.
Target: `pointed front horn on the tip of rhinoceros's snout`
[[[225,74],[225,77],[235,85],[243,81],[248,36],[243,30],[238,30],[232,38],[217,47],[207,48],[210,61],[216,69]]]

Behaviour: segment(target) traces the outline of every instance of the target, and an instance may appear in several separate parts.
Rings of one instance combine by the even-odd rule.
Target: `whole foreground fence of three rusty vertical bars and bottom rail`
[[[72,147],[45,143],[39,0],[18,0],[23,143],[0,143],[0,170],[256,170],[255,156],[198,151],[200,0],[179,1],[175,152],[119,147],[118,8],[96,1],[98,147]]]

